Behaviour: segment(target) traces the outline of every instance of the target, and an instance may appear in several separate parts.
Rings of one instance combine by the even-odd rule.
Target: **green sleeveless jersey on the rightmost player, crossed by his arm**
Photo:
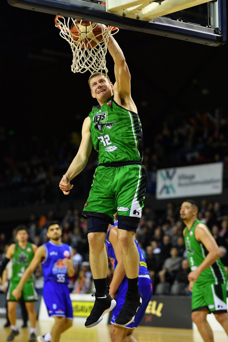
[[[195,269],[203,262],[208,254],[208,251],[204,245],[201,242],[198,242],[195,238],[195,228],[198,223],[202,222],[196,220],[191,229],[188,230],[188,227],[185,227],[184,229],[185,247],[187,250],[191,271],[195,271]],[[208,282],[217,285],[226,283],[226,279],[227,276],[225,268],[220,258],[218,258],[213,265],[207,267],[203,272],[201,272],[196,282],[199,285]]]

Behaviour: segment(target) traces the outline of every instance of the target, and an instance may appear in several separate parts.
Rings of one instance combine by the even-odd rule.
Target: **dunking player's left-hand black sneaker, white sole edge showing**
[[[112,299],[108,290],[109,287],[107,286],[105,293],[92,294],[92,296],[95,296],[95,302],[89,317],[85,321],[86,328],[92,328],[100,323],[100,321],[103,319],[103,316],[116,306],[116,301],[115,299]]]

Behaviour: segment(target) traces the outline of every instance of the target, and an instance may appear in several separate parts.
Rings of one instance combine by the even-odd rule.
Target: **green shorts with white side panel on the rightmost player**
[[[192,312],[207,308],[209,312],[227,312],[226,304],[226,284],[203,284],[194,282],[192,299]]]

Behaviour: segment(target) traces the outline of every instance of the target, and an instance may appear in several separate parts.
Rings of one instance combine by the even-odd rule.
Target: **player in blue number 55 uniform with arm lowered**
[[[38,342],[58,342],[61,333],[72,326],[73,310],[67,285],[68,277],[72,277],[75,270],[72,263],[71,247],[62,243],[62,231],[56,221],[49,223],[47,236],[50,240],[38,247],[29,267],[13,291],[13,295],[15,298],[21,296],[23,285],[37,265],[42,262],[43,299],[49,316],[54,317],[55,322],[51,333],[38,336],[37,340]]]

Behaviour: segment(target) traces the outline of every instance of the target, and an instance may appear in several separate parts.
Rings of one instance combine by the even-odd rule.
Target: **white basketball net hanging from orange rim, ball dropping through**
[[[93,30],[98,24],[87,22],[89,25],[85,26],[81,24],[82,22],[82,20],[80,21],[78,19],[76,23],[73,18],[68,18],[66,23],[64,17],[60,15],[56,15],[55,17],[55,26],[60,29],[59,35],[68,41],[73,52],[71,71],[81,74],[87,70],[91,74],[100,71],[107,76],[108,69],[106,68],[105,55],[107,53],[108,38],[110,35],[115,35],[119,29],[102,25],[102,33],[99,32],[99,34],[95,35]],[[76,30],[72,28],[76,28]],[[113,32],[113,30],[115,31]],[[76,35],[77,38],[74,40],[73,38]]]

